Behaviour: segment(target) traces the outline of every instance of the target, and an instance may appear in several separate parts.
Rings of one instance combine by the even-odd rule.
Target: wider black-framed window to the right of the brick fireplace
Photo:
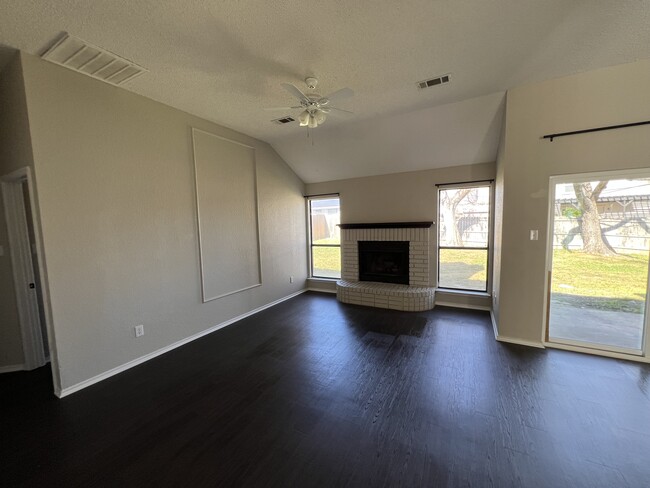
[[[488,290],[490,183],[438,189],[438,287]]]

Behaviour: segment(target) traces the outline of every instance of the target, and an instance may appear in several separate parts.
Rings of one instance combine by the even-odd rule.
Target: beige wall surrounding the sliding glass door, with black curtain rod
[[[556,139],[548,133],[650,119],[650,62],[614,66],[508,92],[499,334],[540,343],[543,332],[549,177],[650,167],[650,128]],[[528,231],[539,229],[539,240]]]

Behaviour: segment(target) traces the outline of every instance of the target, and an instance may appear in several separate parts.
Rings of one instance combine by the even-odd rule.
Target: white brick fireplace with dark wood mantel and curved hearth
[[[422,311],[434,306],[435,289],[429,286],[429,242],[433,222],[390,222],[341,224],[341,280],[336,285],[339,301],[396,310]],[[366,243],[383,242],[388,252],[398,243],[408,245],[408,284],[367,281],[360,271],[359,248]],[[392,245],[388,245],[391,243]],[[397,262],[388,255],[386,260]],[[363,262],[362,262],[363,264]],[[395,268],[389,261],[389,272]],[[381,273],[365,273],[371,279],[382,279]],[[361,275],[361,276],[360,276]],[[379,277],[379,278],[375,278]],[[387,281],[387,280],[382,280]],[[390,280],[388,280],[390,281]],[[403,281],[402,281],[403,283]]]

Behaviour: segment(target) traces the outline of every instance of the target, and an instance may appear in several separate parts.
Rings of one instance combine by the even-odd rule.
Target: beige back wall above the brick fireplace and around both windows
[[[413,171],[366,178],[352,178],[307,184],[307,194],[339,193],[341,222],[435,222],[437,217],[437,184],[493,179],[494,163],[452,166],[426,171]],[[436,276],[436,235],[430,247],[431,285]],[[322,285],[320,285],[322,287]],[[485,298],[438,294],[437,301],[459,306],[489,307]]]

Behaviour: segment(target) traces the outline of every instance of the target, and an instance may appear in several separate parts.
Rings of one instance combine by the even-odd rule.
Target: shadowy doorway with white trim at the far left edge
[[[50,361],[51,344],[46,327],[39,236],[34,223],[32,188],[29,168],[22,168],[2,178],[2,199],[25,370],[47,364]]]

